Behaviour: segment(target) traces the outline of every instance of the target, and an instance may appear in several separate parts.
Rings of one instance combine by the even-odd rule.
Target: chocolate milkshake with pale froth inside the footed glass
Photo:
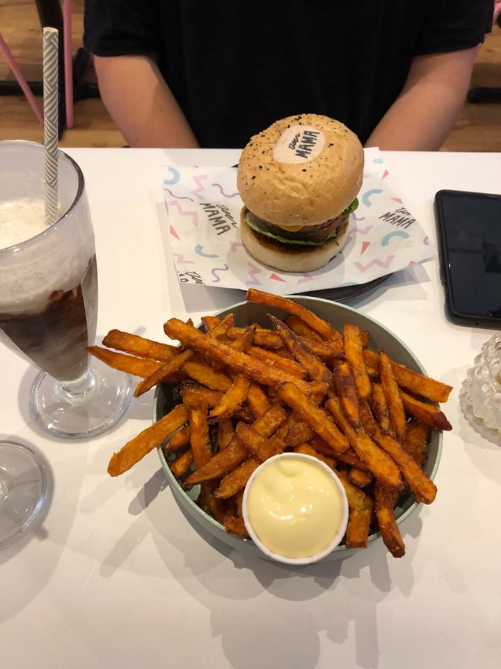
[[[22,245],[44,236],[43,201],[33,198],[0,203],[0,248]],[[81,253],[82,250],[84,253]],[[61,259],[50,272],[29,256],[22,272],[0,279],[0,339],[30,358],[50,376],[71,381],[85,374],[97,323],[95,253],[79,249]],[[58,254],[54,249],[54,254]],[[92,254],[91,254],[92,253]]]

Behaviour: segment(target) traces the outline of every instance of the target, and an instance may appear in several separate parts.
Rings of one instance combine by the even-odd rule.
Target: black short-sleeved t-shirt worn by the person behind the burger
[[[292,114],[363,143],[413,56],[474,47],[492,0],[86,0],[84,45],[153,54],[201,146],[240,148]]]

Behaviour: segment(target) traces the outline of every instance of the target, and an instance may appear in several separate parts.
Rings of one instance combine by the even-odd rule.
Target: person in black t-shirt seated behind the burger
[[[241,148],[326,114],[366,146],[435,150],[493,0],[86,0],[84,45],[130,146]]]

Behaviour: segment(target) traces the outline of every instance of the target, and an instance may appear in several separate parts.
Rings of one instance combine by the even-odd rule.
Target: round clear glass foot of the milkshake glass
[[[29,410],[51,435],[83,439],[109,430],[124,414],[134,391],[132,377],[92,359],[88,373],[61,383],[45,372],[31,387]]]

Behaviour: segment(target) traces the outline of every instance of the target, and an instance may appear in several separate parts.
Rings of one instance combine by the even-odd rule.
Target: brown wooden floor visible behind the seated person
[[[81,47],[84,0],[73,1],[72,43],[74,53]],[[0,0],[0,31],[24,76],[29,81],[42,78],[42,36],[33,0]],[[86,77],[93,79],[93,71]],[[0,54],[0,80],[13,79]],[[472,85],[501,86],[501,29],[495,26],[479,51]],[[41,100],[40,100],[41,102]],[[43,131],[23,95],[0,95],[0,139],[43,141]],[[123,146],[99,98],[80,100],[74,107],[74,128],[61,137],[61,146]],[[501,151],[501,102],[466,102],[456,126],[447,137],[443,151]]]

